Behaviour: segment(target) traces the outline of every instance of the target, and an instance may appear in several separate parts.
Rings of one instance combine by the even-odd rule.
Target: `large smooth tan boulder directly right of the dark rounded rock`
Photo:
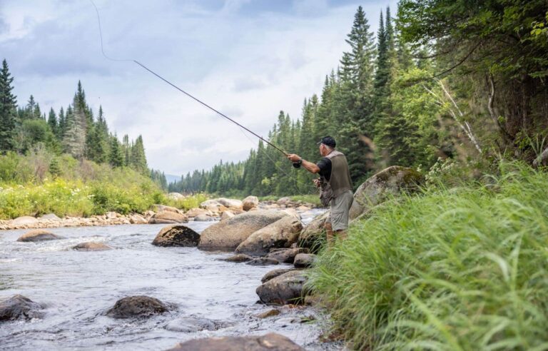
[[[256,210],[210,225],[203,230],[198,248],[233,251],[252,233],[288,216],[276,210]]]

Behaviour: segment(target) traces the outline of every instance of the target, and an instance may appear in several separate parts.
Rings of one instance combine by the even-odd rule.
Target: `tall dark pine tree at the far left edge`
[[[0,151],[13,149],[13,134],[16,126],[16,96],[11,93],[14,78],[9,73],[8,63],[2,61],[0,71]]]

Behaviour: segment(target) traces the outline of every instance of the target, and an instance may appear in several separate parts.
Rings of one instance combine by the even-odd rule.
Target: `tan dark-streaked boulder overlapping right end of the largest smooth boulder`
[[[288,215],[285,218],[257,230],[238,245],[236,253],[262,256],[270,252],[272,248],[289,248],[296,243],[303,223],[297,218]]]

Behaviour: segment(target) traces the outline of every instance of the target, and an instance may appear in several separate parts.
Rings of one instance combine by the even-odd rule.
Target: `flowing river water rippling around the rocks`
[[[315,210],[315,214],[320,210]],[[311,220],[303,218],[303,222]],[[211,222],[191,222],[201,233]],[[272,307],[256,303],[255,288],[270,270],[289,265],[227,263],[229,253],[151,245],[164,225],[52,228],[62,240],[16,241],[27,230],[0,232],[0,300],[21,294],[45,306],[44,316],[0,324],[0,349],[165,350],[196,337],[278,332],[307,350],[338,346],[318,341],[323,322],[313,308],[281,307],[280,315],[255,317]],[[71,247],[99,241],[115,250],[80,252]],[[147,295],[174,310],[148,319],[116,320],[103,313],[116,300]],[[214,331],[186,332],[187,317],[214,320]]]

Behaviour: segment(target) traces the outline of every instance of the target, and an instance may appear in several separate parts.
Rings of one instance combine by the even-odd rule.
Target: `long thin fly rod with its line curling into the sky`
[[[265,138],[263,138],[262,136],[258,135],[257,133],[255,133],[254,131],[251,131],[249,128],[241,125],[240,123],[234,121],[232,118],[226,116],[224,113],[218,111],[217,109],[213,108],[212,106],[208,105],[207,103],[201,101],[199,98],[196,98],[196,96],[193,96],[191,93],[188,93],[186,91],[184,91],[183,89],[179,88],[178,86],[176,86],[176,84],[174,83],[171,83],[171,81],[168,81],[168,79],[166,78],[163,78],[163,76],[159,75],[158,73],[156,73],[155,71],[151,70],[150,68],[148,68],[147,66],[145,66],[143,63],[137,61],[137,60],[134,60],[134,59],[113,59],[111,57],[109,57],[105,51],[104,51],[104,47],[103,47],[103,29],[101,27],[101,16],[99,15],[99,10],[95,4],[95,2],[93,2],[93,0],[89,0],[91,2],[91,4],[93,5],[93,7],[95,8],[95,12],[97,14],[97,23],[98,23],[98,26],[99,26],[99,36],[101,38],[101,54],[103,54],[103,56],[105,57],[105,59],[107,60],[110,60],[110,61],[115,61],[115,62],[133,62],[133,63],[136,63],[138,66],[141,66],[141,68],[145,69],[146,71],[148,71],[149,73],[152,73],[154,76],[156,76],[157,78],[161,79],[162,81],[164,81],[165,83],[168,83],[170,86],[172,86],[173,88],[176,88],[178,91],[181,91],[181,93],[185,94],[186,96],[188,96],[189,98],[192,98],[194,101],[198,102],[198,103],[201,103],[202,106],[205,106],[206,108],[209,108],[211,111],[217,113],[219,116],[222,116],[223,118],[227,119],[228,121],[234,123],[236,126],[240,127],[240,129],[242,130],[242,133],[243,131],[247,131],[248,133],[251,133],[253,134],[253,136],[256,136],[257,138],[259,138],[261,141],[264,141],[265,143],[267,143],[268,145],[272,146],[275,150],[277,151],[280,151],[280,153],[283,153],[284,156],[288,156],[289,154],[287,152],[285,152],[282,148],[278,147],[278,146],[275,146],[275,144],[271,143],[270,141],[266,140]],[[243,133],[243,135],[249,139],[249,137]],[[249,139],[250,140],[250,139]],[[251,140],[250,140],[251,141]],[[253,141],[251,141],[253,143]],[[270,158],[270,156],[268,155],[268,153],[265,152],[265,155],[267,156],[267,158],[270,160],[270,162],[273,163],[273,165],[278,168],[278,170],[280,170],[282,173],[284,173],[286,176],[288,176],[289,178],[292,178],[293,180],[295,180],[295,183],[300,183],[300,184],[303,184],[303,185],[306,185],[306,186],[309,186],[310,188],[315,188],[315,186],[313,185],[309,185],[309,184],[304,184],[304,183],[301,183],[298,179],[296,179],[294,176],[286,173],[285,171],[283,171],[283,169],[279,168],[275,161],[273,161],[272,158]]]

